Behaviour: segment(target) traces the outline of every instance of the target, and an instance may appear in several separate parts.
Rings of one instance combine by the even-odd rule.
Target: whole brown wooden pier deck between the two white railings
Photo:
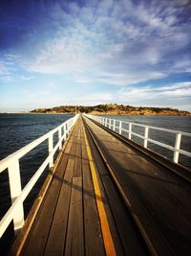
[[[79,117],[10,255],[191,255],[190,202],[188,179]]]

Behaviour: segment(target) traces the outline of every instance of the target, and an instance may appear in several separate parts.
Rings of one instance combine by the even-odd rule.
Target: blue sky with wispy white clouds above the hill
[[[0,111],[191,110],[189,0],[0,2]]]

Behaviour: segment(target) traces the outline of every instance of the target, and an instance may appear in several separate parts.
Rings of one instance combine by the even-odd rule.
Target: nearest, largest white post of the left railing
[[[13,159],[10,163],[9,169],[9,179],[10,179],[10,190],[11,190],[11,202],[13,203],[16,198],[21,194],[21,176],[20,176],[20,166],[19,160]],[[15,234],[24,225],[24,210],[23,203],[19,203],[16,207],[14,218],[14,232]]]

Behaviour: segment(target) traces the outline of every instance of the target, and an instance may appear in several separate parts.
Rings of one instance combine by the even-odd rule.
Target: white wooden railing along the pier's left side
[[[11,207],[0,221],[0,238],[2,237],[12,220],[15,233],[17,233],[17,231],[20,230],[24,225],[23,202],[25,198],[27,198],[30,194],[32,187],[34,186],[40,175],[42,175],[46,167],[48,165],[50,168],[53,167],[54,153],[58,149],[61,150],[62,143],[66,140],[71,129],[74,127],[74,123],[76,122],[77,118],[78,115],[74,116],[57,128],[54,128],[45,135],[32,141],[32,143],[28,144],[24,148],[15,151],[11,155],[0,161],[0,173],[8,170],[11,191]],[[53,147],[53,134],[55,132],[58,132],[58,142]],[[19,160],[26,153],[32,151],[32,149],[34,149],[46,140],[48,140],[49,155],[22,190]]]

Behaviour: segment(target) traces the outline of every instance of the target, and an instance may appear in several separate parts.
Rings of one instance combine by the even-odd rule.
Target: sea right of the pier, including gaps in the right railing
[[[169,128],[174,130],[180,130],[191,133],[191,116],[105,116],[108,118],[113,118],[116,120],[127,121],[131,123],[136,123],[140,125],[147,125],[150,127],[158,128]],[[123,125],[122,128],[128,129],[128,125]],[[133,126],[133,131],[144,135],[144,128],[139,128]],[[124,136],[128,136],[127,132],[122,132]],[[159,131],[155,129],[149,130],[149,138],[157,140],[159,142],[168,144],[170,146],[175,146],[175,134],[169,132]],[[143,145],[143,140],[137,136],[132,135],[132,140],[140,145]],[[173,151],[164,149],[158,145],[148,142],[148,149],[151,151],[156,151],[162,156],[168,158],[172,161]],[[191,137],[182,136],[180,149],[191,152]],[[183,166],[191,168],[191,158],[180,154],[179,163]]]

